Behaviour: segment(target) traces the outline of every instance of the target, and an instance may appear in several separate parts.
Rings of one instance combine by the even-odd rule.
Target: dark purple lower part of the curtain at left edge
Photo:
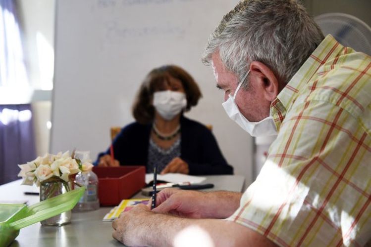
[[[16,179],[18,164],[36,158],[31,105],[0,105],[0,184]]]

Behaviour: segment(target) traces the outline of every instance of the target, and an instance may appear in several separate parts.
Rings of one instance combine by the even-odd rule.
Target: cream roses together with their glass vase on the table
[[[71,190],[72,179],[80,171],[89,171],[93,165],[90,162],[81,162],[69,151],[59,152],[56,155],[46,154],[37,157],[31,162],[18,165],[21,168],[18,176],[23,178],[22,184],[40,187],[40,201],[55,197]],[[64,225],[70,222],[71,211],[61,213],[50,219],[41,221],[42,225]]]

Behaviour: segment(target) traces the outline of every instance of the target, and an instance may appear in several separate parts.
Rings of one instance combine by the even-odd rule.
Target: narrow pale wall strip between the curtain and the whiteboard
[[[53,86],[55,0],[16,0],[22,29],[24,61],[28,80],[35,91],[24,97],[32,102],[36,154],[49,152],[51,93]],[[18,93],[19,94],[19,93]]]

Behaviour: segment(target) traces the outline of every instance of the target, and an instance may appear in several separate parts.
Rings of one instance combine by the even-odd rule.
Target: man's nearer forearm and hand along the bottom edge
[[[147,222],[141,238],[148,246],[177,246],[178,243],[182,246],[274,246],[263,235],[221,219],[187,219],[156,213],[148,217]]]

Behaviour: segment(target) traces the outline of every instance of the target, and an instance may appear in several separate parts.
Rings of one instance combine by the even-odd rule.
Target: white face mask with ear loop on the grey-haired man
[[[249,75],[250,70],[247,72],[246,76],[242,79],[242,81],[238,84],[234,95],[229,95],[229,98],[222,104],[224,107],[225,112],[227,113],[228,117],[240,125],[245,131],[247,131],[251,136],[268,136],[268,135],[276,135],[277,129],[274,124],[273,118],[271,116],[263,119],[260,122],[250,122],[248,121],[245,116],[243,116],[238,109],[238,106],[235,102],[235,98],[237,95],[238,90],[241,87],[242,82],[245,81],[247,75]]]

